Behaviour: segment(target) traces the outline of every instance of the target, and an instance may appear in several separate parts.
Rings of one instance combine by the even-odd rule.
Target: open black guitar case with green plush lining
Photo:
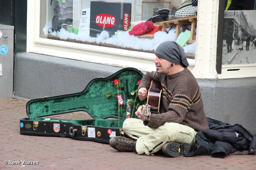
[[[20,119],[20,134],[72,137],[76,140],[99,143],[108,143],[114,136],[124,136],[122,124],[126,119],[126,109],[130,107],[127,106],[127,101],[135,100],[136,93],[132,95],[131,92],[138,89],[137,82],[142,76],[143,73],[136,68],[124,68],[107,78],[91,80],[80,93],[30,100],[26,104],[28,117]],[[115,79],[121,83],[119,94],[122,95],[124,102],[124,113],[119,112],[119,119],[118,92],[112,82]],[[112,92],[114,96],[106,98],[104,94],[107,92]],[[136,103],[142,105],[145,101],[137,97]],[[134,107],[134,104],[131,107]],[[93,119],[47,118],[76,111],[86,111]],[[133,117],[136,117],[135,114]]]

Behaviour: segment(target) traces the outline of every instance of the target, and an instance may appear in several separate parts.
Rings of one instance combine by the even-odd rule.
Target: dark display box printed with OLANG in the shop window
[[[115,35],[116,31],[127,31],[131,21],[131,3],[92,1],[90,8],[90,36],[102,31]]]

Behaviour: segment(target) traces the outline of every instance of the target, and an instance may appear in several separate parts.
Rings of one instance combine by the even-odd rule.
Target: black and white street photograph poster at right
[[[256,10],[224,11],[222,64],[256,63]]]

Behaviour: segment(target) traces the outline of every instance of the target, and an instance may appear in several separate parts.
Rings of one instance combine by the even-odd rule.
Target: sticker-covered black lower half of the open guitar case
[[[63,122],[63,119],[50,119],[50,121],[45,120],[47,118],[40,117],[32,119],[30,117],[20,119],[21,135],[69,137],[79,141],[93,141],[106,144],[109,143],[111,137],[127,137],[122,128],[76,125],[72,123],[72,120],[65,120]],[[104,121],[108,120],[104,119]]]

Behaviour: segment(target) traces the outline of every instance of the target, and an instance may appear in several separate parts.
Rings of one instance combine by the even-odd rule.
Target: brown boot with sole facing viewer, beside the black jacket
[[[178,157],[180,155],[186,155],[188,152],[190,152],[190,148],[190,144],[188,143],[180,144],[176,142],[170,142],[162,146],[162,151],[167,156]]]

